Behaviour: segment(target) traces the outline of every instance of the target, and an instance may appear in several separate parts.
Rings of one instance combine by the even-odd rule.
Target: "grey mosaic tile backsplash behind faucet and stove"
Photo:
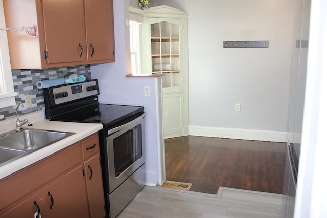
[[[15,97],[16,105],[0,108],[0,121],[16,116],[16,107],[19,101],[25,105],[25,95],[28,94],[32,98],[32,107],[27,109],[19,107],[19,115],[42,110],[44,107],[43,90],[36,88],[36,82],[63,78],[71,74],[84,75],[88,80],[91,79],[91,68],[89,65],[81,65],[41,70],[12,70],[14,91],[18,93]]]

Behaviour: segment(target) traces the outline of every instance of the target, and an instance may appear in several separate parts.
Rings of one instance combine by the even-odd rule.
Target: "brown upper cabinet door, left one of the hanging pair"
[[[48,64],[86,61],[83,0],[42,1]]]

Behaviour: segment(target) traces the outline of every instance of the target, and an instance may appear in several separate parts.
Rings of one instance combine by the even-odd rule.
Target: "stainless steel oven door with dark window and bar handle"
[[[144,117],[108,130],[109,193],[145,163]]]

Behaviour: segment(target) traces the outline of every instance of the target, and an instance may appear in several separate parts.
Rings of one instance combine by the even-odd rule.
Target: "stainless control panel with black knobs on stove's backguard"
[[[97,80],[56,86],[51,91],[55,105],[99,95]]]

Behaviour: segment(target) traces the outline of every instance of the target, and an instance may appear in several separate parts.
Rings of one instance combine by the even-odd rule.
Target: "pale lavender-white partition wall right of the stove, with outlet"
[[[146,183],[162,184],[165,172],[162,172],[161,162],[164,160],[158,156],[164,143],[162,119],[160,120],[161,78],[125,77],[130,71],[129,27],[126,25],[129,0],[114,0],[113,4],[116,61],[91,66],[92,78],[98,79],[99,82],[100,103],[144,106]],[[150,86],[151,97],[144,97],[144,85]]]

